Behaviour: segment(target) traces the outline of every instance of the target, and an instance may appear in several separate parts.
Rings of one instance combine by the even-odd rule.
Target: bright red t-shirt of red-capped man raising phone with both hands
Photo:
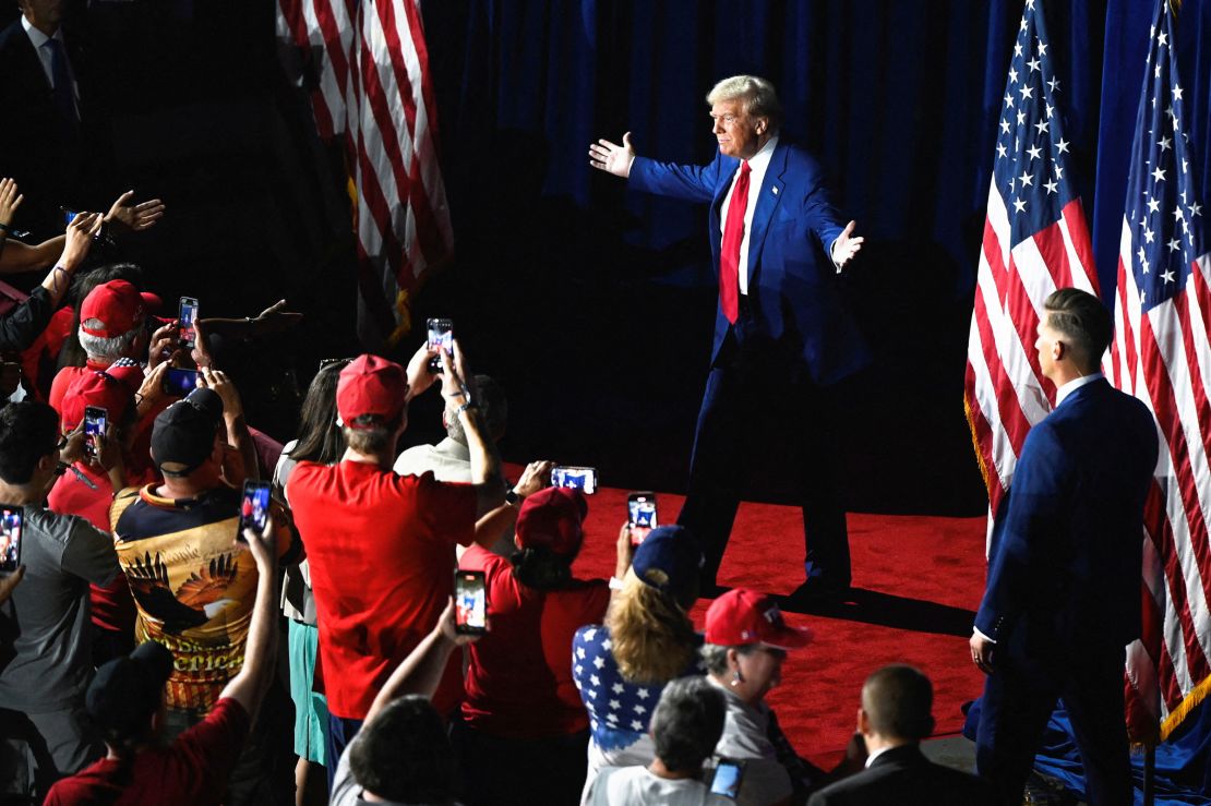
[[[475,488],[374,465],[299,462],[286,484],[311,569],[328,710],[365,719],[395,667],[429,634],[454,588],[454,543],[475,539]],[[463,695],[450,658],[434,695]]]

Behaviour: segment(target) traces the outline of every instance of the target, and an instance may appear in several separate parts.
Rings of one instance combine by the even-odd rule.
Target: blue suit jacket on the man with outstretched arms
[[[723,197],[740,167],[716,152],[707,166],[683,166],[636,157],[631,186],[685,201],[710,202],[707,231],[716,275]],[[752,191],[751,191],[752,192]],[[845,311],[827,249],[844,225],[828,201],[820,165],[807,151],[779,140],[762,183],[748,238],[748,299],[756,335],[800,356],[815,382],[826,385],[861,369],[869,355]],[[728,333],[722,310],[714,317],[714,349]]]

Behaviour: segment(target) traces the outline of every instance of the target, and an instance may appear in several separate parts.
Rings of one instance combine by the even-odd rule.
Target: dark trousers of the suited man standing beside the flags
[[[1085,767],[1090,806],[1133,804],[1123,704],[1121,646],[1073,652],[1046,667],[1008,651],[985,681],[976,767],[999,802],[1022,802],[1048,718],[1062,698]],[[1052,673],[1050,669],[1058,669]]]

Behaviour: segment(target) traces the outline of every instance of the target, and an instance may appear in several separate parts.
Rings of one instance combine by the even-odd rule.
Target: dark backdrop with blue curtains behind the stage
[[[110,191],[168,202],[127,257],[165,298],[197,295],[207,315],[256,313],[279,297],[306,313],[294,334],[231,356],[253,422],[287,438],[295,386],[320,358],[356,350],[355,284],[340,150],[316,140],[306,96],[283,77],[272,5],[69,0],[105,87]],[[1207,200],[1211,0],[1183,5]],[[716,304],[706,209],[629,194],[586,151],[630,129],[641,154],[705,162],[704,96],[753,71],[777,85],[786,136],[819,154],[867,236],[846,282],[876,362],[821,424],[846,444],[850,507],[980,513],[962,382],[1021,11],[1020,0],[424,2],[458,253],[415,317],[452,316],[476,368],[505,384],[506,457],[683,489]],[[1071,0],[1048,13],[1108,295],[1152,4]],[[440,436],[438,408],[419,401],[408,437]],[[754,497],[779,497],[777,471],[796,459],[781,442],[771,433],[737,470]]]

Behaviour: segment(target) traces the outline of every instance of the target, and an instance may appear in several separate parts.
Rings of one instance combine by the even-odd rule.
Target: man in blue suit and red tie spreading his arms
[[[805,532],[800,593],[838,595],[850,583],[849,540],[826,462],[836,451],[823,390],[868,361],[837,287],[862,238],[853,235],[854,221],[842,224],[815,159],[779,137],[781,106],[769,81],[724,79],[706,100],[719,144],[707,166],[637,157],[630,132],[621,145],[589,146],[595,168],[638,190],[711,205],[719,306],[678,523],[702,543],[710,593],[740,502],[742,450],[768,448],[770,438],[788,443]],[[775,432],[758,428],[770,422]]]

